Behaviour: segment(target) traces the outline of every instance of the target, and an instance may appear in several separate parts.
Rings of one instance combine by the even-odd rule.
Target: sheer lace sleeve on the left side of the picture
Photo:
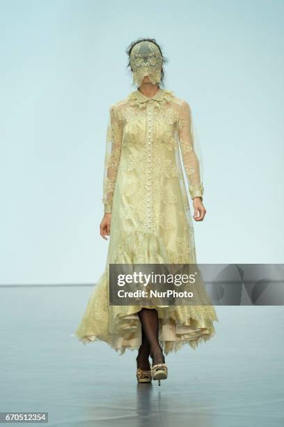
[[[121,141],[123,126],[116,105],[109,109],[109,122],[107,125],[107,141],[104,158],[103,197],[104,213],[111,212],[113,191],[116,186],[116,176],[120,163]]]

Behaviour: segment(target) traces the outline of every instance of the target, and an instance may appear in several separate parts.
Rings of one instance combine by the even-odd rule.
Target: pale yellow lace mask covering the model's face
[[[155,43],[142,41],[132,47],[130,54],[130,66],[133,73],[133,82],[137,87],[148,76],[152,84],[161,80],[161,52]]]

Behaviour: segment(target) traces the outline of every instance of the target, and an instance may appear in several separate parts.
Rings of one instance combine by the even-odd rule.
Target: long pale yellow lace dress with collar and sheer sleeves
[[[120,354],[141,345],[141,306],[109,305],[110,263],[196,263],[186,181],[191,198],[203,197],[202,156],[187,101],[166,89],[152,98],[136,89],[111,105],[102,199],[104,212],[111,212],[109,250],[72,335],[82,343],[102,340]],[[185,344],[195,349],[215,334],[214,307],[204,305],[204,289],[196,293],[200,306],[152,306],[164,354]]]

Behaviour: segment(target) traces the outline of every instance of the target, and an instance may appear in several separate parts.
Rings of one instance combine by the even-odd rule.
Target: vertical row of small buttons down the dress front
[[[151,199],[152,199],[152,191],[151,191],[151,180],[152,180],[152,100],[148,101],[147,106],[147,203],[146,203],[146,224],[148,229],[151,228],[152,225],[152,207],[151,207]]]

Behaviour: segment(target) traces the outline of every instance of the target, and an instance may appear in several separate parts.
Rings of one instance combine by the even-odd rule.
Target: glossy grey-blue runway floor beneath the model
[[[136,384],[134,352],[70,337],[91,290],[0,287],[0,411],[61,427],[283,426],[282,306],[216,307],[216,336],[169,355],[158,387]]]

